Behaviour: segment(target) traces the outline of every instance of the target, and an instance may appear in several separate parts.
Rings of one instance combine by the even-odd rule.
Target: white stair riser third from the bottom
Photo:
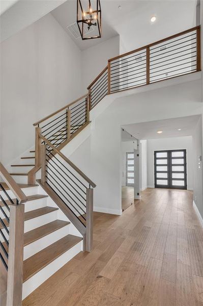
[[[55,221],[57,219],[57,211],[39,216],[37,218],[33,218],[30,220],[27,220],[24,222],[24,233],[29,232],[34,230],[35,228],[42,226],[44,224],[47,224],[49,222]],[[9,230],[9,227],[8,227]],[[6,238],[8,239],[8,234],[5,231],[5,229],[3,228],[2,232],[4,233],[4,235],[6,236]],[[2,239],[2,235],[0,235],[0,239],[1,241],[4,241]]]

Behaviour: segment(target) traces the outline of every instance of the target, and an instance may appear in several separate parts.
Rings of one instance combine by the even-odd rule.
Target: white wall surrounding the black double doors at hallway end
[[[187,189],[193,190],[192,136],[148,139],[148,187],[154,188],[154,151],[186,149]]]

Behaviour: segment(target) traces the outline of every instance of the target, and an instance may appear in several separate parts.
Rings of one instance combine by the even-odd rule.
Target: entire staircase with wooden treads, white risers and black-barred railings
[[[107,94],[196,71],[200,26],[110,59],[87,94],[33,124],[35,148],[10,173],[0,164],[1,305],[21,305],[78,252],[92,250],[96,185],[61,152],[91,123],[91,110]]]

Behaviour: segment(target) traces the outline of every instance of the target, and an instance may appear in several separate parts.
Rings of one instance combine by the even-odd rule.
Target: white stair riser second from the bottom
[[[45,247],[49,246],[50,244],[56,242],[57,240],[67,236],[69,234],[69,225],[66,225],[60,228],[41,239],[34,241],[26,246],[24,246],[24,260],[33,256],[37,252],[41,251]]]

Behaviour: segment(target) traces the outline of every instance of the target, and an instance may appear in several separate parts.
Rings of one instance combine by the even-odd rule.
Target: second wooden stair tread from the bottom
[[[55,220],[37,227],[34,230],[24,234],[24,246],[45,237],[46,235],[51,234],[68,224],[70,224],[69,221]]]

